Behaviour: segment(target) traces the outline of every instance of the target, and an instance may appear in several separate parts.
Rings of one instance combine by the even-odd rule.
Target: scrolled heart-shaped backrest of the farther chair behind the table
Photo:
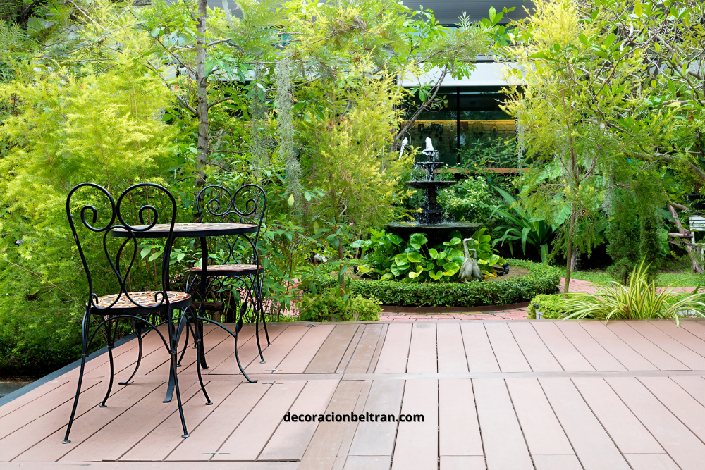
[[[196,210],[200,222],[257,225],[257,230],[245,237],[255,249],[257,258],[255,247],[262,230],[266,205],[266,192],[262,187],[254,184],[240,186],[235,192],[221,185],[209,185],[204,187],[196,198]],[[239,236],[235,236],[232,241],[228,240],[228,249],[231,252],[228,258],[233,256],[232,251],[237,245],[238,238]],[[228,259],[226,263],[230,261],[232,260]]]

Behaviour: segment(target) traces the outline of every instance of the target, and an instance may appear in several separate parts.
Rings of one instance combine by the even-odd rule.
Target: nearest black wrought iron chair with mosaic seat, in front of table
[[[152,194],[149,194],[150,190],[152,190]],[[78,207],[72,208],[72,199],[78,199],[75,200],[75,202],[78,202],[78,204],[75,205],[82,207],[80,207],[80,209],[78,209]],[[129,203],[125,204],[125,202]],[[127,211],[126,214],[132,215],[132,218],[139,221],[142,225],[132,225],[125,221],[125,218],[128,217],[125,215],[125,212],[123,212],[123,204],[129,206],[128,209],[125,209],[125,211]],[[160,216],[159,210],[155,206],[161,206],[164,208],[163,215]],[[181,425],[183,427],[182,437],[188,437],[186,422],[183,416],[180,391],[178,388],[176,356],[178,353],[178,338],[185,325],[185,317],[194,315],[195,312],[191,310],[190,313],[185,313],[189,311],[189,309],[192,309],[192,307],[190,307],[191,296],[188,293],[173,292],[169,290],[168,266],[171,247],[173,245],[174,223],[176,222],[176,201],[171,193],[166,190],[166,188],[153,183],[140,183],[128,187],[128,189],[125,190],[120,197],[118,197],[118,202],[116,204],[111,194],[103,187],[94,183],[82,183],[74,187],[68,194],[68,198],[66,199],[66,215],[68,216],[68,223],[71,225],[73,237],[78,247],[78,252],[87,276],[88,300],[86,302],[85,314],[83,316],[81,328],[82,354],[80,372],[78,374],[78,387],[76,389],[73,409],[71,410],[71,418],[68,421],[66,437],[64,438],[63,443],[67,444],[71,442],[68,440],[68,436],[69,433],[71,433],[71,426],[73,424],[73,419],[75,418],[76,407],[78,406],[78,398],[81,391],[86,358],[89,355],[96,334],[103,327],[106,328],[106,339],[108,342],[110,381],[108,383],[108,390],[106,391],[100,407],[106,407],[106,402],[113,387],[114,378],[112,350],[114,347],[118,321],[121,319],[130,319],[135,323],[135,325],[145,325],[149,328],[149,330],[156,331],[159,338],[161,338],[161,341],[164,342],[164,347],[166,347],[166,350],[171,357],[169,387],[171,388],[173,385],[173,388],[176,391],[176,402],[178,403],[178,411],[181,418]],[[97,223],[99,216],[100,223]],[[75,219],[79,217],[82,226],[80,226],[81,224],[75,223]],[[146,232],[150,228],[153,228],[154,225],[157,225],[157,223],[165,223],[169,226],[168,238],[166,239],[166,246],[164,247],[164,254],[162,255],[161,261],[161,290],[149,292],[129,292],[128,279],[137,254],[138,237],[135,235],[137,234],[145,237],[142,233]],[[98,234],[102,233],[104,255],[107,258],[109,270],[114,273],[120,288],[120,292],[117,294],[99,296],[94,291],[89,262],[87,261],[86,254],[83,252],[83,247],[80,242],[76,225],[79,225],[79,228],[81,229],[81,232],[84,233],[84,236],[87,235],[87,233],[85,233],[85,229],[89,232],[95,233],[96,236],[99,236]],[[123,232],[122,236],[124,241],[123,238],[116,239],[114,242],[108,240],[107,237],[109,234],[111,232],[115,233],[116,230]],[[128,233],[128,235],[125,235],[125,233]],[[132,242],[133,245],[131,249],[128,247],[130,242]],[[125,250],[125,247],[128,247],[128,249]],[[111,252],[114,252],[115,255],[111,256]],[[123,255],[129,260],[129,262],[126,263],[127,266],[121,266],[121,261],[125,259],[123,258]],[[124,264],[125,262],[123,261],[123,265]],[[179,313],[174,315],[175,311],[178,311]],[[157,321],[155,319],[161,319],[161,321]],[[97,323],[97,325],[92,328],[92,324],[94,323]],[[160,323],[166,323],[168,338],[165,338],[164,334],[159,330],[158,326]],[[195,335],[195,340],[200,342],[200,335],[198,335],[198,332],[196,332]],[[141,346],[142,335],[140,335],[140,357],[142,352]],[[197,354],[200,354],[200,349],[197,351]],[[139,360],[137,367],[138,366]],[[201,390],[206,397],[207,404],[210,404],[210,400],[200,375],[200,369],[198,367],[196,369],[198,370]],[[136,368],[135,371],[137,371]],[[171,400],[170,396],[168,397],[168,400],[165,400],[165,402],[169,400]]]

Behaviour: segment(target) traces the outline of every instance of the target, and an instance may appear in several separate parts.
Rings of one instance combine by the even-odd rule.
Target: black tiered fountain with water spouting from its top
[[[401,151],[404,151],[406,142],[405,139]],[[455,180],[441,181],[438,179],[438,170],[446,166],[446,163],[439,161],[439,151],[434,150],[430,138],[426,139],[426,149],[421,153],[429,159],[415,164],[415,168],[419,170],[419,173],[422,173],[421,178],[423,179],[407,183],[410,187],[424,192],[421,214],[414,222],[391,223],[387,225],[387,228],[405,240],[412,233],[424,233],[429,239],[429,246],[438,245],[445,241],[453,230],[458,230],[462,236],[469,237],[474,229],[480,226],[479,223],[448,222],[443,218],[443,208],[437,201],[438,191],[455,185]]]

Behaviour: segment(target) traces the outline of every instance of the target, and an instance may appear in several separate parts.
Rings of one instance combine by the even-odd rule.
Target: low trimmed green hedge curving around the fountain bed
[[[529,275],[475,283],[401,283],[393,280],[349,280],[350,295],[375,297],[384,305],[404,307],[476,307],[529,302],[539,294],[553,294],[560,270],[547,264],[508,259],[510,266],[529,269]],[[335,279],[324,284],[333,285]]]

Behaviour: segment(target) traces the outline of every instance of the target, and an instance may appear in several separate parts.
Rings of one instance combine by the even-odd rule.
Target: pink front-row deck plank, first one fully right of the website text
[[[439,381],[439,455],[484,455],[469,378]]]

